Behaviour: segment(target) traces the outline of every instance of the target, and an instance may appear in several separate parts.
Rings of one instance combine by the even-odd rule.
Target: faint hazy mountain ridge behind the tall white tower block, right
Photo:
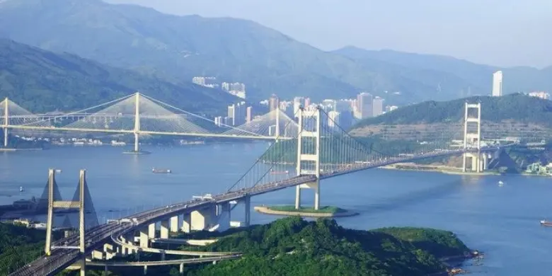
[[[475,64],[463,59],[435,54],[413,54],[393,50],[363,50],[343,47],[333,51],[361,64],[371,66],[379,62],[394,64],[418,81],[435,84],[443,89],[461,88],[458,96],[489,95],[492,74],[502,70],[504,93],[552,91],[552,67],[539,70],[531,67],[500,68]],[[469,93],[468,93],[469,92]],[[434,100],[438,100],[435,98]]]

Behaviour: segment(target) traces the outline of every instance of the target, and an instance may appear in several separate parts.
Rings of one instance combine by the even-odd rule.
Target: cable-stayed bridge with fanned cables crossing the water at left
[[[6,98],[0,102],[0,123],[4,146],[8,131],[84,132],[134,134],[134,151],[138,151],[140,135],[273,140],[295,137],[298,130],[297,123],[280,109],[234,127],[141,93],[64,114],[33,114]]]

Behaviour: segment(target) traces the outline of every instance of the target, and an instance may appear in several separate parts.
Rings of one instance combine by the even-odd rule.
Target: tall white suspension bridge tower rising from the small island
[[[320,142],[321,142],[321,110],[304,110],[301,106],[297,111],[299,117],[299,133],[297,134],[297,176],[314,175],[316,180],[311,183],[304,183],[296,186],[295,190],[295,209],[301,208],[301,189],[314,189],[314,209],[320,208]],[[314,117],[316,125],[314,131],[305,130],[304,118]],[[314,139],[314,154],[304,153],[303,139]],[[314,171],[304,170],[304,163],[314,163]]]

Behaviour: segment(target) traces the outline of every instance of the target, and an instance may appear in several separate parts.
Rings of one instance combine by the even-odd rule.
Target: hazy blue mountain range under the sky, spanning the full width
[[[193,76],[240,81],[253,100],[271,93],[287,99],[348,98],[359,91],[394,104],[449,100],[464,95],[461,91],[487,94],[495,69],[463,61],[447,69],[449,64],[441,64],[450,57],[420,55],[418,62],[413,54],[396,52],[323,52],[251,21],[171,16],[100,0],[2,1],[0,36],[173,82]],[[397,62],[404,55],[415,62]],[[551,70],[527,70],[530,74],[505,72],[506,91],[552,88]]]

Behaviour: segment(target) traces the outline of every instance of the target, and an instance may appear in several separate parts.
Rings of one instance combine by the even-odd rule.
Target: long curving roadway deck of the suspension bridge
[[[507,147],[512,146],[513,144],[500,146]],[[481,148],[482,152],[485,151],[494,151],[499,149],[498,146],[487,146]],[[350,166],[345,166],[343,168],[337,168],[330,173],[323,173],[321,179],[332,178],[335,176],[340,176],[347,173],[353,173],[355,171],[362,171],[369,168],[376,168],[381,166],[391,165],[393,163],[404,163],[409,161],[415,161],[419,159],[432,158],[437,156],[449,156],[454,154],[463,154],[464,152],[476,152],[477,149],[458,149],[458,150],[441,150],[441,151],[432,151],[425,154],[420,154],[418,156],[405,156],[398,157],[393,159],[381,159],[379,161],[374,161],[370,163],[355,163]],[[127,217],[128,219],[136,218],[137,224],[130,223],[110,223],[102,224],[95,226],[92,229],[86,231],[85,243],[86,250],[85,255],[88,255],[93,250],[103,246],[105,242],[108,242],[109,238],[115,239],[118,236],[127,234],[130,231],[136,231],[144,226],[147,226],[154,222],[159,222],[162,219],[168,219],[174,217],[178,214],[185,212],[192,212],[195,209],[203,209],[205,207],[212,206],[214,203],[226,203],[233,200],[240,200],[244,197],[261,195],[266,192],[273,192],[275,190],[281,190],[284,188],[293,187],[296,185],[301,185],[303,183],[309,183],[316,180],[316,176],[295,176],[287,180],[282,180],[274,183],[266,183],[263,185],[255,185],[252,188],[241,189],[233,192],[225,192],[220,195],[216,195],[212,200],[190,200],[187,202],[178,203],[175,205],[160,207],[156,209],[151,209],[145,212],[140,212],[134,214],[133,216]],[[68,238],[63,238],[62,240],[54,243],[54,246],[60,246],[67,242],[68,246],[78,246],[79,236],[69,236]],[[41,257],[37,260],[34,260],[32,263],[25,265],[25,267],[16,270],[11,275],[54,275],[57,272],[62,271],[64,268],[67,268],[69,265],[75,263],[79,260],[81,253],[75,249],[63,249],[63,248],[54,248],[52,254],[47,257]]]

